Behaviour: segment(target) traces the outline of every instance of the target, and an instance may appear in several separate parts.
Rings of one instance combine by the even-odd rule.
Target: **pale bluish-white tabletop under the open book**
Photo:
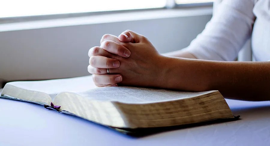
[[[0,99],[0,146],[270,145],[270,102],[227,102],[241,120],[134,138],[38,104]]]

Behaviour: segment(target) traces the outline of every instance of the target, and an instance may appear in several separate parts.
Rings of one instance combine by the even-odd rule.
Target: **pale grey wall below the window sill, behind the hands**
[[[0,79],[52,79],[88,75],[88,50],[101,36],[130,29],[160,53],[187,47],[211,15],[0,32]]]

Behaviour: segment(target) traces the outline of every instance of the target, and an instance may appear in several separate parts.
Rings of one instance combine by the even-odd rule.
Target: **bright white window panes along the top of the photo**
[[[6,0],[1,2],[0,18],[163,8],[167,1],[171,0]],[[175,0],[175,3],[211,1],[213,0]]]

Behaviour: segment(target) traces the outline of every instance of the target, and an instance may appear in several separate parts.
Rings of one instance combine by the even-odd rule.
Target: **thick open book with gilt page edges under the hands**
[[[42,104],[116,128],[165,127],[234,118],[218,91],[95,87],[91,76],[9,82],[1,97]]]

